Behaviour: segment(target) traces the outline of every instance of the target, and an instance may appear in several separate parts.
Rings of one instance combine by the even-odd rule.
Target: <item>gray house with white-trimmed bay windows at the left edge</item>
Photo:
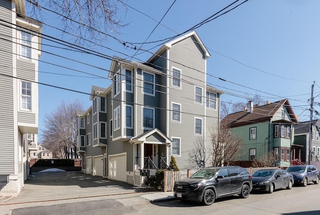
[[[19,193],[36,147],[41,26],[24,0],[0,0],[0,196]]]

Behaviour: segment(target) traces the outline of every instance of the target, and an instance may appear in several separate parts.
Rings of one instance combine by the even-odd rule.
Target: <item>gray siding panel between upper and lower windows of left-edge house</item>
[[[35,81],[34,63],[27,60],[19,60],[16,62],[16,76],[28,81]]]

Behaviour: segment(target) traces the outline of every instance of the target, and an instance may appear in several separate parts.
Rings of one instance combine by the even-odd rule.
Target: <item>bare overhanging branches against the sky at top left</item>
[[[27,0],[31,16],[41,20],[41,11],[53,12],[60,17],[62,30],[72,32],[80,40],[86,38],[96,41],[106,38],[126,26],[122,23],[119,10],[125,10],[125,0]],[[110,36],[110,35],[108,35]],[[77,39],[77,40],[79,40]]]

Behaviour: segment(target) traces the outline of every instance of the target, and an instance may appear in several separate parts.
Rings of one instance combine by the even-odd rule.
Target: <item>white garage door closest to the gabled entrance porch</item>
[[[126,155],[109,156],[108,179],[126,182]]]

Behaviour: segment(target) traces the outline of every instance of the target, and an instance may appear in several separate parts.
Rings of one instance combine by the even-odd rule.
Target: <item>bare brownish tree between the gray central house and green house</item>
[[[229,164],[243,156],[244,144],[242,139],[236,134],[232,134],[230,129],[220,123],[217,132],[211,132],[212,143],[212,165],[222,166]]]

